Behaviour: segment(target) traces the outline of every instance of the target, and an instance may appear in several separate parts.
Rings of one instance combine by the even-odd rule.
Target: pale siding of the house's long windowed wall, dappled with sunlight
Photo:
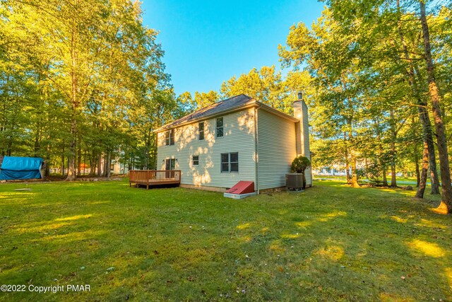
[[[232,187],[239,180],[256,182],[254,161],[254,109],[232,112],[223,117],[223,137],[215,137],[216,117],[204,120],[204,140],[198,140],[198,122],[178,127],[174,146],[165,146],[165,132],[158,133],[157,168],[165,170],[166,158],[177,158],[181,183],[195,186]],[[239,172],[221,173],[221,153],[239,153]],[[199,165],[192,165],[199,156]]]

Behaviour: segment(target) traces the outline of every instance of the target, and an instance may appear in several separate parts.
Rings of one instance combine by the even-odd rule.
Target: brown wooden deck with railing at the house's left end
[[[179,185],[181,170],[130,170],[129,186],[145,185],[149,189],[153,185]]]

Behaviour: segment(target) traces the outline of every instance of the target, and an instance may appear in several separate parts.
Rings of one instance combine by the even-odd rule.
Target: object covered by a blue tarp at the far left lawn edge
[[[0,166],[0,180],[41,178],[42,158],[5,156]]]

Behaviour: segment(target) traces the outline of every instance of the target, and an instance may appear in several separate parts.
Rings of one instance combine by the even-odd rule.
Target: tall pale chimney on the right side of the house
[[[308,122],[308,106],[304,103],[303,94],[298,93],[298,100],[294,102],[294,117],[299,120],[295,124],[295,133],[297,135],[297,155],[306,156],[311,160],[311,151],[309,150],[309,122]],[[311,167],[306,169],[306,183],[312,186]]]

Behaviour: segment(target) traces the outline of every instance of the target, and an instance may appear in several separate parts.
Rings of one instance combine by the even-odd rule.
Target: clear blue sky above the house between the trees
[[[174,92],[218,91],[232,76],[275,65],[289,28],[311,25],[323,3],[314,0],[144,0],[143,23],[160,31],[163,62]]]

